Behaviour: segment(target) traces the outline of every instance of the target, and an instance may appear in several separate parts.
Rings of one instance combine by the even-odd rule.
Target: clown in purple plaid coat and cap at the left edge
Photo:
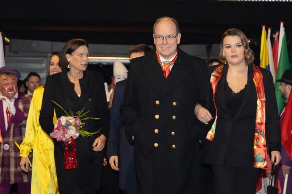
[[[19,148],[24,138],[31,96],[18,92],[21,74],[14,67],[0,68],[0,193],[10,194],[17,183],[19,194],[30,193],[31,170],[21,171]]]

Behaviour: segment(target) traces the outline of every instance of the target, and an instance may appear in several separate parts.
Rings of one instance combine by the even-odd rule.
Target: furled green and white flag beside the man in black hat
[[[286,69],[290,68],[289,57],[288,57],[288,49],[286,43],[286,35],[285,29],[283,27],[284,22],[280,22],[280,34],[279,34],[279,53],[278,53],[278,68],[276,73],[276,80],[280,79]],[[281,45],[281,48],[280,48]],[[280,82],[275,82],[275,93],[278,105],[278,113],[281,111],[283,107],[284,99],[281,98],[281,92],[279,91]]]

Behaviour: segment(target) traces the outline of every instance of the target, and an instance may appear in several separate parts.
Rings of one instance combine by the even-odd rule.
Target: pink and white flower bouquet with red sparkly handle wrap
[[[84,120],[99,120],[100,118],[85,117],[90,111],[84,112],[78,111],[77,115],[70,110],[70,114],[66,112],[58,103],[52,101],[56,106],[64,111],[66,116],[61,116],[58,118],[55,124],[53,132],[50,133],[51,138],[56,138],[57,142],[64,141],[65,151],[64,151],[64,168],[74,169],[77,168],[77,156],[76,156],[76,142],[75,139],[81,135],[82,137],[92,137],[96,132],[88,132],[83,127],[85,123]],[[69,146],[71,146],[71,151],[69,151]]]

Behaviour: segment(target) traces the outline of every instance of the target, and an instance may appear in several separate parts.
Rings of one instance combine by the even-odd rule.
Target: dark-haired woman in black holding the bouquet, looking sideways
[[[93,137],[75,139],[77,165],[75,169],[64,168],[64,142],[54,141],[54,156],[59,191],[63,193],[97,193],[100,187],[103,164],[103,148],[109,130],[109,112],[102,74],[87,70],[88,43],[83,39],[68,41],[61,53],[61,73],[50,75],[46,79],[40,125],[47,134],[53,131],[54,110],[57,118],[65,116],[63,110],[52,101],[58,103],[65,111],[77,115],[84,110],[86,117],[99,120],[84,120],[84,129],[99,133]]]

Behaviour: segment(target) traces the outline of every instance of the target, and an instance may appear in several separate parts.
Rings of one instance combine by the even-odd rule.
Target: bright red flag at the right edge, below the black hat
[[[284,146],[288,156],[292,160],[291,118],[292,118],[292,92],[290,92],[290,95],[288,97],[288,101],[281,123],[281,143]]]

